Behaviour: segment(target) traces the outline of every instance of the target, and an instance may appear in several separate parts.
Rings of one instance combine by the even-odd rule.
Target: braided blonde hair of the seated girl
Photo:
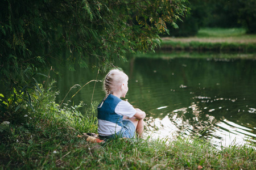
[[[114,91],[120,90],[123,83],[128,80],[128,76],[123,71],[118,69],[110,70],[105,76],[103,90],[106,92],[106,98],[109,94],[113,94]]]

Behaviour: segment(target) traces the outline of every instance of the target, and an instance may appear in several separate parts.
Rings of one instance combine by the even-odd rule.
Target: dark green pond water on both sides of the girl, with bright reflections
[[[199,135],[216,146],[256,142],[255,57],[189,58],[165,53],[158,57],[129,57],[128,62],[116,65],[129,76],[126,99],[146,112],[146,135]],[[83,86],[105,76],[88,70],[59,70],[62,75],[57,77],[57,100],[63,100],[75,84]],[[79,88],[72,89],[66,99]],[[104,98],[101,82],[89,83],[72,101],[90,105],[92,95],[99,102]]]

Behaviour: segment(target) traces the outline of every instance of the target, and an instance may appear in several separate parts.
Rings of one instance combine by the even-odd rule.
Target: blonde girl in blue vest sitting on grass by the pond
[[[146,113],[135,109],[125,97],[128,76],[118,69],[110,70],[104,79],[106,97],[98,105],[98,134],[101,139],[142,137]]]

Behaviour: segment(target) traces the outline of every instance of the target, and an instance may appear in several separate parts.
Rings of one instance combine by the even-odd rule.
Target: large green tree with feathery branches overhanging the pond
[[[186,1],[3,1],[1,78],[20,82],[28,67],[36,70],[64,51],[71,70],[75,62],[105,70],[126,51],[154,50],[166,23],[176,25],[188,11]]]

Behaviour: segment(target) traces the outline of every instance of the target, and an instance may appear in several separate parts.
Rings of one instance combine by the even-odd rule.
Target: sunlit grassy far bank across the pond
[[[203,28],[195,37],[162,37],[160,50],[256,52],[256,35],[241,28]]]

